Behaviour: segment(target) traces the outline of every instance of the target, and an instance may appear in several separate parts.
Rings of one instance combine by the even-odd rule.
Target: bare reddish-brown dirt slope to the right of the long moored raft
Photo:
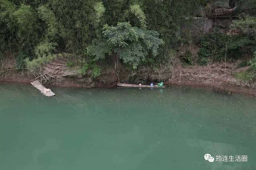
[[[239,61],[236,63],[225,62],[212,63],[206,66],[176,66],[172,70],[172,78],[166,82],[170,85],[189,85],[193,87],[204,87],[207,89],[220,90],[226,89],[228,93],[245,93],[256,96],[254,84],[245,83],[234,77],[239,71],[244,71],[248,67],[236,69]]]

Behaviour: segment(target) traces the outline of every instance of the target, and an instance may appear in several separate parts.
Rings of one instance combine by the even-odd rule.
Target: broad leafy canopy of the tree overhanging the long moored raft
[[[156,57],[159,45],[164,41],[158,38],[156,31],[132,27],[128,22],[118,23],[117,26],[104,25],[103,38],[94,40],[87,50],[94,60],[109,55],[118,55],[124,63],[131,64],[136,69],[146,57]]]

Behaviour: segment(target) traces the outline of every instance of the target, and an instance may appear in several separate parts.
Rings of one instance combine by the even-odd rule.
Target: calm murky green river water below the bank
[[[0,170],[256,170],[256,98],[191,87],[0,91]]]

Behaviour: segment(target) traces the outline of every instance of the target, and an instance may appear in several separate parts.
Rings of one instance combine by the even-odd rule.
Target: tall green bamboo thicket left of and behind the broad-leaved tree
[[[175,47],[181,40],[178,34],[180,24],[186,16],[193,16],[204,2],[74,0],[71,3],[67,0],[0,0],[0,56],[6,52],[19,53],[16,61],[20,67],[24,65],[25,58],[28,58],[26,61],[36,58],[47,60],[47,56],[58,51],[86,57],[89,45],[106,38],[102,34],[104,24],[114,28],[118,23],[130,22],[131,27],[138,31],[137,34],[145,33],[149,38],[150,34],[155,37],[156,32],[159,33],[157,37],[160,36],[158,38],[162,38],[165,43],[159,44],[160,53],[154,62],[161,63],[170,57],[168,48]],[[138,29],[141,29],[140,32]],[[150,44],[144,45],[150,47]],[[154,46],[147,52],[144,45],[137,47],[135,42],[128,45],[130,50],[136,48],[136,57],[129,59],[120,52],[120,58],[125,62],[131,61],[137,67],[139,60],[156,55]],[[140,59],[136,61],[136,58]]]

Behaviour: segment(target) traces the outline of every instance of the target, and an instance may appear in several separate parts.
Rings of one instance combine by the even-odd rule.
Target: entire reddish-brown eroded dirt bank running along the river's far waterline
[[[238,62],[237,62],[238,63]],[[120,68],[119,79],[122,83],[158,83],[164,81],[166,85],[188,85],[193,87],[204,87],[218,90],[226,89],[228,93],[244,93],[256,96],[256,85],[251,85],[239,81],[234,77],[234,73],[245,68],[236,69],[237,63],[212,63],[207,66],[187,66],[174,63],[176,66],[163,67],[161,70],[152,71],[148,67],[140,67],[137,70]],[[30,83],[34,81],[34,75],[23,69],[22,71],[15,68],[14,57],[3,59],[1,63],[0,81],[10,81],[19,83]],[[0,71],[0,72],[1,72]],[[90,70],[88,70],[90,72]],[[88,74],[89,75],[89,74]],[[82,76],[72,69],[66,69],[60,76],[52,80],[53,86],[62,87],[115,87],[118,82],[118,76],[114,65],[102,67],[101,75],[97,78],[91,76]],[[50,84],[49,84],[50,86]]]

